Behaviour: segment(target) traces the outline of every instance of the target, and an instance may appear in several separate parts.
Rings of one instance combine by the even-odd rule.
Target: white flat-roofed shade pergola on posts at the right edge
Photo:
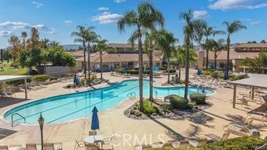
[[[252,100],[254,100],[255,88],[267,89],[267,74],[248,74],[249,78],[228,82],[234,85],[233,108],[236,108],[236,87],[238,85],[252,88]]]

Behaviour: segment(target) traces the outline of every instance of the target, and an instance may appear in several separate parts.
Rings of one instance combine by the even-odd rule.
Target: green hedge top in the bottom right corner
[[[266,144],[267,140],[256,138],[252,136],[231,138],[225,141],[213,142],[206,144],[202,147],[204,150],[208,149],[235,149],[235,150],[250,150],[257,149],[263,144]]]

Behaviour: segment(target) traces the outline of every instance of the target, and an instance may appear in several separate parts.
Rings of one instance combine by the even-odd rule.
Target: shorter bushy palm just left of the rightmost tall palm
[[[214,69],[217,69],[217,58],[221,51],[226,49],[226,45],[224,44],[225,40],[220,39],[218,41],[215,41],[213,39],[207,40],[205,44],[202,44],[202,47],[204,49],[210,49],[214,52]]]

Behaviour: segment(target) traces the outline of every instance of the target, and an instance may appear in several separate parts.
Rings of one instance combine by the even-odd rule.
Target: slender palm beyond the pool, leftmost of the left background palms
[[[75,37],[74,42],[83,44],[83,74],[86,79],[86,28],[84,26],[77,26],[77,31],[73,31],[71,36]]]

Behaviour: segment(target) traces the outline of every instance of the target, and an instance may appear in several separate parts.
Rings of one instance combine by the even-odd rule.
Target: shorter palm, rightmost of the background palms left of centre
[[[114,47],[108,47],[108,44],[107,44],[108,40],[106,39],[101,39],[99,38],[99,40],[97,40],[97,44],[96,44],[96,47],[95,49],[97,49],[97,51],[99,52],[99,57],[100,57],[100,72],[101,72],[101,81],[103,80],[103,76],[102,76],[102,55],[103,55],[103,51],[106,51],[106,50],[115,50]]]

